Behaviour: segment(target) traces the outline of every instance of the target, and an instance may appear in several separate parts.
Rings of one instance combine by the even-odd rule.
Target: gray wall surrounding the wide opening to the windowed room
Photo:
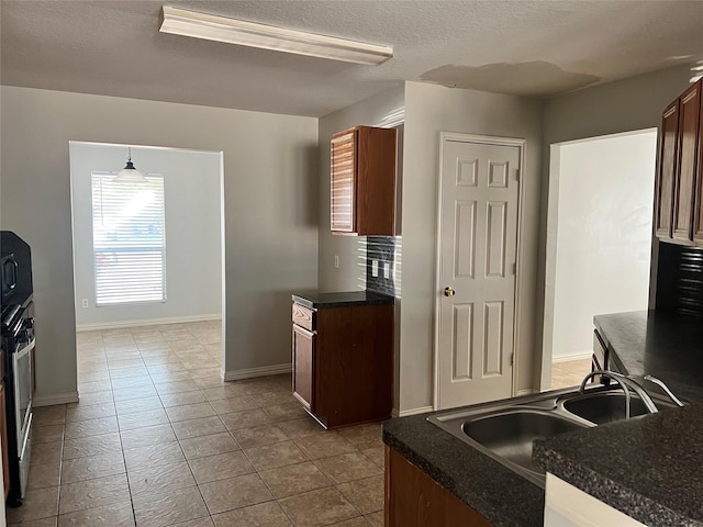
[[[315,119],[14,87],[0,103],[2,226],[33,249],[40,401],[76,391],[69,141],[224,152],[223,366],[290,365],[290,293],[317,283]]]

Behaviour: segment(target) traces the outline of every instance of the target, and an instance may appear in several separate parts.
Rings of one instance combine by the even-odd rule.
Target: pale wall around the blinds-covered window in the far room
[[[126,146],[71,143],[69,149],[77,326],[221,316],[221,153],[132,148],[138,170],[164,177],[166,301],[97,307],[91,173],[120,170]]]

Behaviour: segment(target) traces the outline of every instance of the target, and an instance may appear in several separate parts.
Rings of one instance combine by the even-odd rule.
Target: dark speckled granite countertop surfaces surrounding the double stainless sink
[[[656,375],[694,404],[535,441],[535,461],[646,525],[703,526],[703,323],[654,311],[594,322],[623,373]],[[428,415],[386,422],[383,441],[494,525],[543,525],[540,487]]]

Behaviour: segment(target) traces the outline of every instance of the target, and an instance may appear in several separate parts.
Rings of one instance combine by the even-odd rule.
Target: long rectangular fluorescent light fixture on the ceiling
[[[169,5],[164,5],[164,21],[159,31],[356,64],[381,64],[393,56],[393,48],[389,46],[257,24]]]

